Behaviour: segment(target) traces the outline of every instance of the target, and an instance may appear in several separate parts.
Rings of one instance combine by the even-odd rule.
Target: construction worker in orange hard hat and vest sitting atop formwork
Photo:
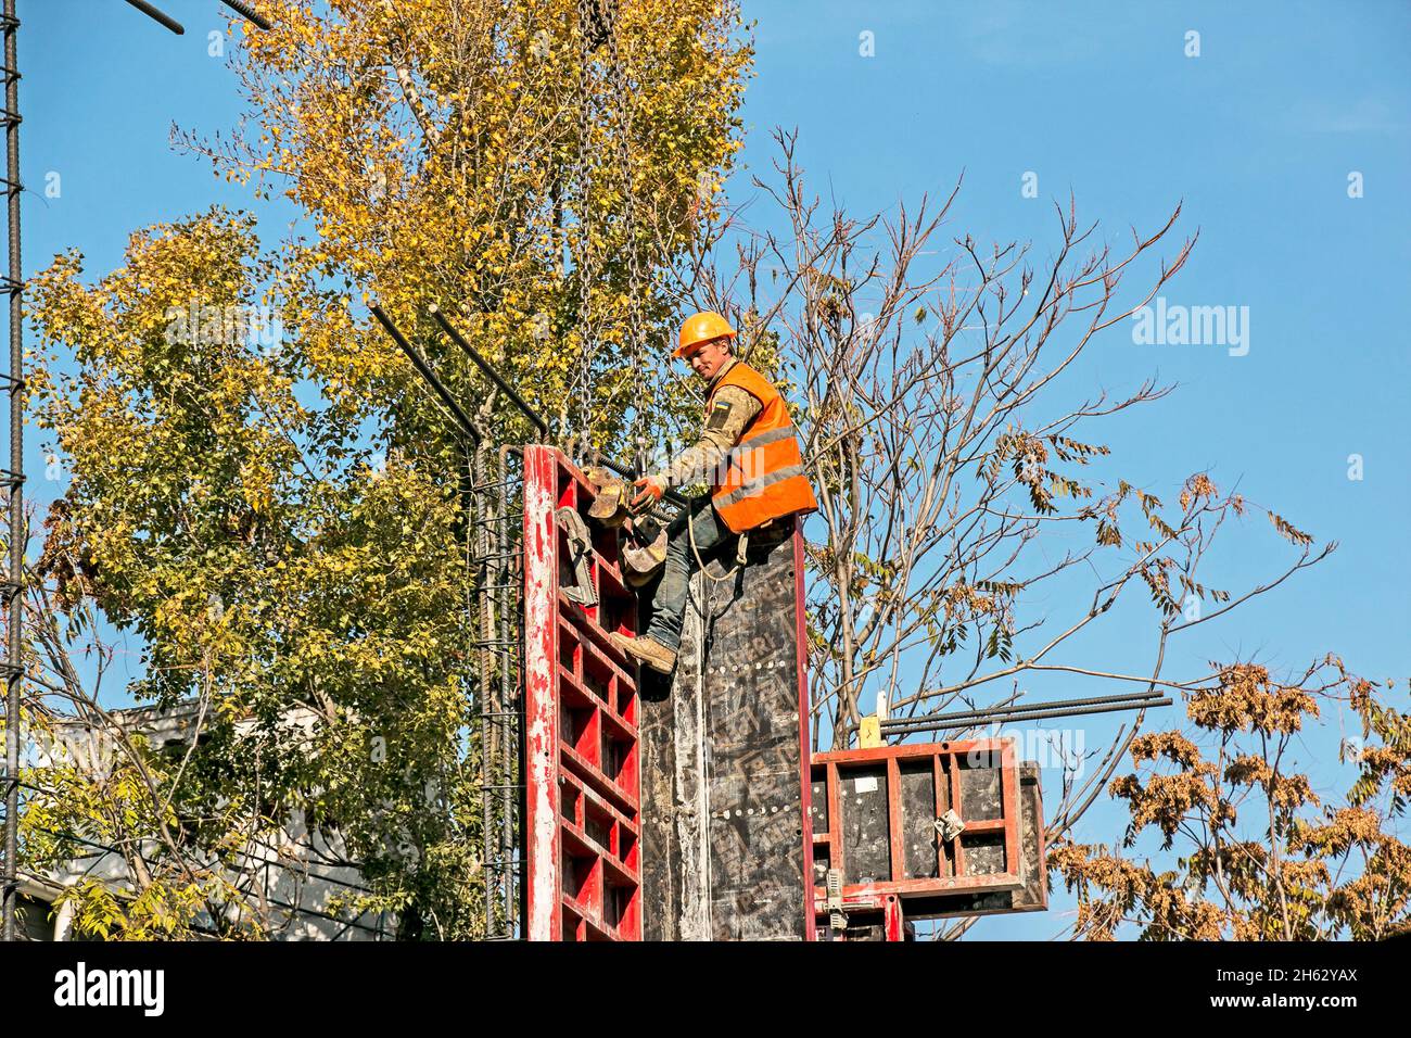
[[[612,636],[618,648],[662,674],[676,668],[696,568],[711,554],[739,548],[741,534],[818,508],[783,397],[734,356],[734,340],[735,329],[720,314],[697,314],[682,325],[672,356],[683,357],[706,381],[704,429],[670,465],[632,484],[638,490],[632,508],[641,510],[669,489],[711,482],[710,496],[694,499],[667,527],[666,563],[646,633]]]

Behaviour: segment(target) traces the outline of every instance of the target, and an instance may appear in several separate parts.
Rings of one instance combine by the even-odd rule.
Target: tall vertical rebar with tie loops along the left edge
[[[4,740],[4,939],[16,938],[20,857],[20,691],[24,674],[24,643],[20,624],[24,614],[24,271],[20,264],[20,71],[16,34],[20,21],[16,0],[4,0],[4,107],[6,107],[6,202],[10,219],[10,628],[6,640],[6,740]]]

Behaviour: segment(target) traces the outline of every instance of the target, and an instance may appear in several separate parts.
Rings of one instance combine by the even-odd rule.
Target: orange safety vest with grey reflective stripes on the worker
[[[731,532],[742,534],[770,520],[817,511],[818,500],[803,475],[803,452],[779,390],[749,364],[737,360],[711,387],[706,414],[724,386],[738,386],[761,407],[739,442],[717,466],[710,494],[715,514]]]

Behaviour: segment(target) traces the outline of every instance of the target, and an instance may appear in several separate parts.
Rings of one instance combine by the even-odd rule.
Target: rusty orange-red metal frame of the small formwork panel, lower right
[[[981,808],[979,797],[967,795],[972,791],[965,787],[965,775],[996,771],[998,795],[985,798],[985,806]],[[903,774],[923,780],[928,774],[926,785],[930,792],[923,798],[924,821],[909,818],[909,813],[917,811],[917,802],[913,801],[909,812]],[[821,794],[824,799],[814,809],[813,837],[814,904],[821,919],[828,917],[828,891],[817,883],[824,870],[837,870],[842,878],[840,907],[845,912],[856,909],[880,914],[883,939],[888,941],[904,938],[909,902],[935,905],[948,895],[983,897],[1020,891],[1031,883],[1022,867],[1020,765],[1015,757],[1013,740],[976,739],[818,753],[813,757],[813,781],[816,797]],[[876,819],[880,836],[873,833],[871,837],[873,845],[885,839],[885,866],[876,870],[882,874],[859,874],[864,869],[879,864],[875,846],[873,860],[868,866],[848,860],[848,847],[856,849],[859,843],[859,812],[852,809],[849,818],[845,802],[844,785],[848,781],[854,782],[855,792],[861,792],[859,782],[866,781],[866,789],[878,791],[885,802],[886,816]],[[934,821],[951,809],[964,822],[958,837],[947,840],[935,833],[924,846],[914,843],[919,833],[931,833]],[[975,816],[976,812],[982,816]],[[1041,819],[1036,821],[1040,823],[1037,836],[1041,861]],[[975,847],[978,840],[983,840],[989,849],[998,840],[999,859],[986,854],[979,866],[968,863],[967,845]]]

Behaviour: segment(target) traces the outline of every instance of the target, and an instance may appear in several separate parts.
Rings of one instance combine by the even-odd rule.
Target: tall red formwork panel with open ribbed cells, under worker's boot
[[[587,520],[597,602],[566,596],[576,578],[557,511],[586,518],[591,486],[547,446],[525,448],[523,473],[525,936],[641,941],[641,698],[608,641],[636,631],[636,597],[617,531]]]

